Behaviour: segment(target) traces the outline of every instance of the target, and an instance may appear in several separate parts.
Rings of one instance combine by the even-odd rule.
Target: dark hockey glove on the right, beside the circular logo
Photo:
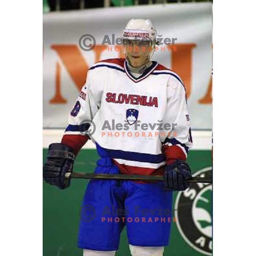
[[[186,180],[190,178],[191,169],[183,160],[176,160],[175,163],[167,165],[164,169],[165,189],[185,190],[189,187]]]

